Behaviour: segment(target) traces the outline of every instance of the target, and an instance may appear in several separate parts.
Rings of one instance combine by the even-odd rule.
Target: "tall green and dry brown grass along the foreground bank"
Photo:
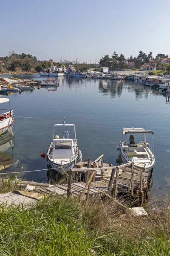
[[[169,203],[147,211],[135,217],[99,197],[87,203],[53,196],[22,211],[1,205],[0,256],[170,255]]]

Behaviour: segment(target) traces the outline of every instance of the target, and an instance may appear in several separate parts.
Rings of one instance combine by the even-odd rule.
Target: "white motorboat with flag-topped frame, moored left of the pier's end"
[[[69,130],[69,131],[68,131]],[[58,132],[61,132],[59,137]],[[52,168],[54,168],[61,175],[68,172],[74,167],[79,157],[82,161],[82,153],[78,148],[76,129],[73,124],[54,125],[51,144],[47,150],[47,160]]]

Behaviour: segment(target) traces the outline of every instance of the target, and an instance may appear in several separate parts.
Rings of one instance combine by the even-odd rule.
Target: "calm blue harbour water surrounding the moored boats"
[[[7,77],[7,76],[6,76]],[[45,80],[45,77],[15,76]],[[166,96],[131,81],[74,79],[60,77],[56,91],[46,88],[9,95],[14,117],[15,145],[8,152],[18,165],[8,171],[46,169],[47,151],[53,125],[76,125],[79,148],[83,159],[95,160],[104,154],[105,163],[116,165],[116,145],[121,140],[122,128],[141,127],[153,130],[156,165],[153,174],[153,195],[166,197],[170,187],[170,102]],[[21,177],[37,182],[48,181],[47,171],[30,172]],[[60,177],[61,178],[61,177]],[[165,180],[164,180],[165,178]]]

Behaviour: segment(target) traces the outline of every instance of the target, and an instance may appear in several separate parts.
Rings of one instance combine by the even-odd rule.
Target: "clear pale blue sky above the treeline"
[[[113,51],[170,54],[170,0],[1,0],[0,56],[99,61]]]

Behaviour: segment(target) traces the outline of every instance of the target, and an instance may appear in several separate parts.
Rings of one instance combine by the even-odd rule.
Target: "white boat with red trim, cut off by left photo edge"
[[[9,111],[0,113],[0,135],[14,122],[14,111],[11,110],[10,100],[8,98],[0,98],[0,104],[6,102],[9,102]]]

